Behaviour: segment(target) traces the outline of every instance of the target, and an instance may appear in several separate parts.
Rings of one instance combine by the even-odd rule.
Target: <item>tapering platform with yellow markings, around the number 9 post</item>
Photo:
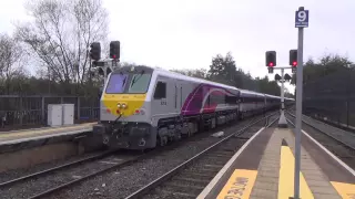
[[[197,198],[290,199],[294,197],[295,137],[291,128],[255,134],[210,181]],[[302,134],[301,199],[355,199],[355,171]]]

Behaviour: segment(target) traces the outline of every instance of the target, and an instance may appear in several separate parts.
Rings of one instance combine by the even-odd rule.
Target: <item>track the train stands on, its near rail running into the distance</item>
[[[274,115],[275,113],[270,114],[267,117]],[[264,118],[265,117],[251,118],[245,123],[250,125],[250,124],[258,123]],[[186,139],[186,142],[193,142],[194,139],[199,140],[202,137],[207,137],[207,136],[210,136],[210,134],[206,134],[206,135],[199,134],[191,137],[190,139]],[[60,165],[53,168],[44,169],[42,171],[33,172],[16,179],[11,179],[9,181],[1,182],[0,190],[2,192],[2,191],[6,191],[7,189],[9,190],[16,187],[18,190],[20,190],[20,191],[17,191],[16,198],[30,198],[30,199],[45,198],[64,188],[68,188],[73,185],[78,185],[84,180],[88,180],[89,178],[93,178],[103,172],[108,172],[112,169],[121,169],[123,167],[134,164],[135,161],[152,157],[163,150],[173,149],[179,145],[183,145],[183,144],[184,142],[180,142],[180,143],[178,142],[176,144],[158,148],[155,150],[151,150],[146,154],[140,154],[140,155],[128,155],[122,153],[116,155],[115,153],[118,151],[113,151],[113,150],[104,151],[102,154],[99,154],[92,157],[83,158],[69,164]],[[30,181],[30,185],[29,185],[29,181]],[[20,188],[20,187],[23,187],[23,188]]]

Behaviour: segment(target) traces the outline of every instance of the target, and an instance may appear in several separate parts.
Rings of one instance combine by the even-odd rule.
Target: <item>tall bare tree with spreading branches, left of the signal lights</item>
[[[109,15],[102,1],[32,0],[26,8],[34,22],[17,25],[17,36],[52,80],[82,84],[90,70],[90,43],[105,42],[108,35]]]

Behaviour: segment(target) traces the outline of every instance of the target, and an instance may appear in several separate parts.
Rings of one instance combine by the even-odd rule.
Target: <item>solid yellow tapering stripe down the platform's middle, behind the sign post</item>
[[[278,178],[278,199],[288,199],[294,196],[294,165],[295,158],[292,150],[287,146],[281,148],[280,163],[280,178]],[[314,198],[313,193],[300,171],[300,198]]]

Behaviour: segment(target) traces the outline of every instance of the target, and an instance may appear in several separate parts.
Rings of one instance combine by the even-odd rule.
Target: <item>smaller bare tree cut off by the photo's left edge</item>
[[[0,84],[6,88],[7,94],[10,93],[12,78],[26,76],[22,65],[24,57],[22,48],[17,40],[8,34],[0,34]]]

